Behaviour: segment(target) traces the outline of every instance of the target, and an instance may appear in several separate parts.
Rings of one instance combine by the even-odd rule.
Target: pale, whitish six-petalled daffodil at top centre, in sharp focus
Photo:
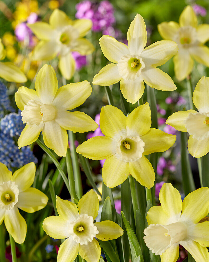
[[[165,64],[178,51],[173,41],[158,41],[145,49],[147,31],[144,19],[137,14],[127,33],[129,46],[114,37],[103,35],[100,46],[108,64],[95,75],[94,85],[113,85],[120,81],[120,90],[125,99],[134,104],[144,92],[144,82],[149,86],[172,91],[176,89],[171,77],[156,66]]]

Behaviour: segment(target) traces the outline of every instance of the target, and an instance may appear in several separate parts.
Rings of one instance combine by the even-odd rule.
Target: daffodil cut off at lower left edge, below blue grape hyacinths
[[[44,193],[31,187],[35,173],[33,162],[21,167],[13,175],[0,163],[0,225],[4,220],[7,231],[19,244],[25,241],[27,225],[18,208],[33,213],[44,208],[48,202]]]

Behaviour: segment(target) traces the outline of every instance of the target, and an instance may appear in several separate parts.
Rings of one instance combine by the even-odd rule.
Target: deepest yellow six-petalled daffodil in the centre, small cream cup
[[[155,173],[144,155],[164,152],[176,136],[150,128],[149,103],[126,117],[117,107],[101,109],[100,128],[105,137],[93,137],[78,146],[77,152],[94,160],[105,159],[102,178],[107,187],[123,183],[129,173],[147,188],[154,185]]]

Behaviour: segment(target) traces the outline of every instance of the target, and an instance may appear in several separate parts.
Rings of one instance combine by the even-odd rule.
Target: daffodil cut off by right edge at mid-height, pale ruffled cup
[[[199,158],[209,152],[209,77],[202,77],[193,92],[193,103],[199,112],[187,110],[173,113],[166,123],[189,133],[189,153]]]

